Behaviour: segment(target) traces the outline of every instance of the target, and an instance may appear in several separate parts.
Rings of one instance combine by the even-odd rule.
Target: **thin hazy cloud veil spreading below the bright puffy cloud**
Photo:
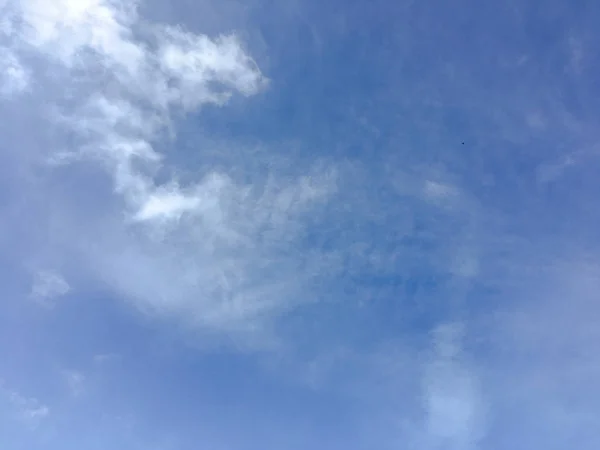
[[[302,295],[323,261],[297,245],[306,211],[332,189],[301,179],[257,192],[213,173],[189,194],[198,203],[187,217],[178,211],[179,221],[164,225],[181,204],[151,204],[138,217],[150,235],[87,251],[94,271],[142,309],[176,314],[212,331],[260,334],[259,324],[310,301]],[[149,237],[154,232],[160,239]]]

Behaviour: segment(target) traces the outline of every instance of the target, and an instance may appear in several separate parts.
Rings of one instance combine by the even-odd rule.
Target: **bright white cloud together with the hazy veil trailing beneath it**
[[[248,181],[205,165],[196,179],[165,180],[173,167],[158,142],[175,117],[223,105],[235,93],[256,94],[267,80],[235,35],[150,24],[136,7],[22,0],[11,9],[12,46],[52,69],[35,81],[64,89],[64,101],[50,108],[52,126],[78,142],[50,149],[47,160],[94,161],[114,180],[119,209],[94,236],[74,230],[69,245],[95,277],[144,311],[212,331],[256,333],[309,300],[301,291],[323,262],[297,245],[315,208],[335,192],[335,173],[290,176],[265,164]],[[67,286],[42,274],[33,295],[46,299]]]

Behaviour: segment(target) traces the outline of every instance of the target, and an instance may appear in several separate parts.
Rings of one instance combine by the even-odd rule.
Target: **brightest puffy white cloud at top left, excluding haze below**
[[[26,0],[19,6],[15,16],[22,24],[15,28],[21,46],[73,71],[66,83],[82,74],[88,78],[82,102],[62,111],[61,122],[85,138],[87,155],[107,165],[117,191],[139,209],[137,217],[177,217],[193,209],[197,199],[182,194],[176,183],[166,192],[143,168],[160,164],[153,139],[169,124],[171,108],[222,104],[232,91],[251,95],[264,85],[237,38],[211,40],[156,26],[153,40],[142,41],[136,38],[137,5],[129,2]],[[112,95],[96,84],[111,80]]]

